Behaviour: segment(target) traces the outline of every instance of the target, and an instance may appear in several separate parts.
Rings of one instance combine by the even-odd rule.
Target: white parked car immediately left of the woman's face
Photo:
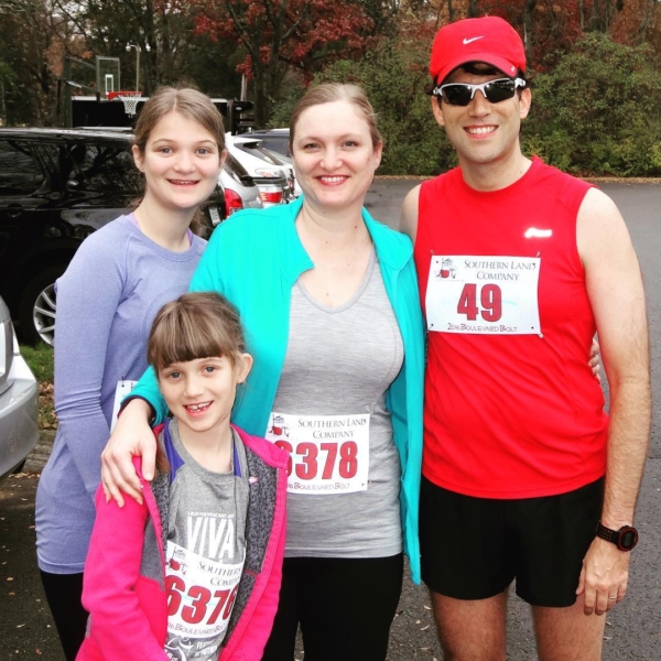
[[[227,151],[252,177],[264,207],[290,202],[292,194],[286,165],[281,161],[275,162],[268,154],[262,154],[259,151],[259,140],[249,136],[249,133],[242,136],[227,133]]]

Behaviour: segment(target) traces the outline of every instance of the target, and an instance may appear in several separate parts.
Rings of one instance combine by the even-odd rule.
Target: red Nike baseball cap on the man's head
[[[513,78],[525,72],[525,48],[519,33],[503,19],[464,19],[438,30],[430,73],[437,84],[468,62],[485,62]]]

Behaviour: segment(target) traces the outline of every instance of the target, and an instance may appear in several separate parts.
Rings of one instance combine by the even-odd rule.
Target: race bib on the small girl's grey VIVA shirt
[[[224,639],[243,559],[234,564],[216,562],[169,541],[166,563],[165,653],[182,661],[208,659]]]

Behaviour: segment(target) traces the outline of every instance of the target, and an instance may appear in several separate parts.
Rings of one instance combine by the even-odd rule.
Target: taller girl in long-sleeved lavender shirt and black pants
[[[83,570],[116,391],[144,371],[153,317],[188,286],[206,246],[192,231],[195,216],[225,156],[223,118],[210,100],[193,89],[159,90],[136,127],[144,197],[86,239],[57,281],[59,427],[36,495],[36,548],[67,660],[85,636]]]

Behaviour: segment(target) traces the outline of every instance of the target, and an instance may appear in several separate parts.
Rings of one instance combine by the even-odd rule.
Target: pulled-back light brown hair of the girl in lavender
[[[199,124],[212,134],[218,152],[225,149],[225,124],[218,108],[212,99],[193,87],[160,87],[153,96],[144,104],[133,134],[133,145],[138,148],[140,155],[144,155],[144,149],[151,132],[161,119],[169,112],[177,112],[182,117]],[[134,209],[142,198],[136,199],[131,208]],[[191,229],[195,234],[202,234],[202,212],[197,209],[191,221]]]

